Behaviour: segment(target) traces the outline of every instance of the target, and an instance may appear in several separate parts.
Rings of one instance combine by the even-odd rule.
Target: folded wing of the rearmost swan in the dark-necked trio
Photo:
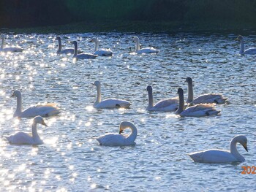
[[[224,104],[227,98],[224,98],[222,94],[219,93],[208,93],[198,96],[192,101],[192,104]]]

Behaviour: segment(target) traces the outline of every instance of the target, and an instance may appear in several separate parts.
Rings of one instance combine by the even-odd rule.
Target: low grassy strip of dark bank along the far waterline
[[[87,32],[200,32],[200,31],[253,31],[256,23],[235,22],[146,22],[146,21],[105,21],[105,22],[80,22],[60,26],[45,26],[34,28],[2,28],[3,33],[39,33],[39,34],[72,34]]]

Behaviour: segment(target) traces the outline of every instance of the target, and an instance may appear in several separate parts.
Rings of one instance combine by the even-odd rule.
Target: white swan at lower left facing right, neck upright
[[[31,126],[32,135],[19,131],[16,134],[12,134],[10,136],[5,136],[10,142],[10,144],[16,145],[40,145],[42,144],[42,139],[40,139],[37,133],[37,123],[42,124],[43,126],[47,126],[45,121],[42,119],[41,116],[37,116],[33,119],[33,123]]]

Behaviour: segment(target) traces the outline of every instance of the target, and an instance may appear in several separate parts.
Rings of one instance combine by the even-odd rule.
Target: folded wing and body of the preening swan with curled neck
[[[99,142],[99,145],[121,146],[125,145],[126,137],[122,134],[105,134],[96,139]]]

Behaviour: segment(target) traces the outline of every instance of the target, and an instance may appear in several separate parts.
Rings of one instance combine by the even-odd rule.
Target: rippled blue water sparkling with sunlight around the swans
[[[255,34],[255,32],[253,32]],[[151,45],[157,55],[134,55],[132,37]],[[31,120],[12,118],[15,89],[23,93],[23,107],[56,102],[61,115],[38,126],[43,145],[9,145],[0,138],[0,191],[253,191],[255,174],[241,174],[241,166],[255,166],[255,55],[238,55],[238,34],[67,34],[63,44],[78,40],[92,52],[91,37],[113,50],[112,58],[72,61],[56,55],[56,34],[7,35],[7,45],[23,53],[0,54],[0,133],[30,131]],[[245,36],[255,46],[256,35]],[[221,115],[178,118],[173,112],[147,112],[146,86],[154,101],[177,96],[186,77],[194,80],[195,96],[223,93],[230,104],[218,105]],[[128,110],[95,110],[92,83],[102,82],[102,97],[132,102]],[[94,137],[118,132],[121,120],[138,127],[132,147],[99,146]],[[127,131],[128,133],[128,131]],[[230,139],[244,134],[249,152],[238,151],[241,164],[197,164],[187,153],[211,147],[228,149]]]

